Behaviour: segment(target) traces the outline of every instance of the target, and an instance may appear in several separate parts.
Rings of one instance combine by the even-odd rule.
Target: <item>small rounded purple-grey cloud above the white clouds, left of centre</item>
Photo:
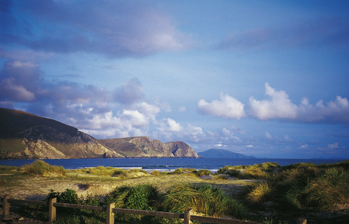
[[[132,105],[144,98],[143,87],[137,78],[128,80],[113,94],[114,100],[125,105]]]

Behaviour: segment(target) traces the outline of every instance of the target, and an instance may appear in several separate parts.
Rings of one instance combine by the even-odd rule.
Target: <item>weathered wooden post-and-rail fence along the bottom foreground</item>
[[[185,210],[183,214],[183,213],[154,212],[154,211],[133,210],[133,209],[119,209],[119,208],[115,208],[115,203],[110,203],[107,205],[107,207],[57,203],[56,198],[50,199],[49,202],[43,202],[43,201],[10,199],[8,195],[5,195],[3,198],[0,198],[0,199],[2,201],[2,217],[9,215],[10,203],[34,204],[34,205],[48,206],[49,222],[53,222],[56,220],[56,208],[62,207],[62,208],[85,209],[85,210],[96,210],[96,211],[107,212],[106,224],[114,224],[115,213],[183,219],[184,224],[190,224],[191,221],[198,221],[203,223],[215,223],[215,224],[257,224],[257,223],[243,222],[243,221],[237,221],[237,220],[195,216],[193,215],[194,211],[192,209]]]

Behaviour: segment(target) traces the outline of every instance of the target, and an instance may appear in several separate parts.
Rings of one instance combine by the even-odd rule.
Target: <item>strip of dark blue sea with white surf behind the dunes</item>
[[[0,159],[0,165],[23,166],[35,159]],[[277,162],[281,166],[295,163],[338,163],[339,159],[209,159],[209,158],[115,158],[115,159],[43,159],[50,165],[63,166],[64,169],[80,169],[97,166],[110,166],[121,169],[143,169],[174,171],[177,168],[208,169],[212,172],[226,165],[253,165],[264,162]]]

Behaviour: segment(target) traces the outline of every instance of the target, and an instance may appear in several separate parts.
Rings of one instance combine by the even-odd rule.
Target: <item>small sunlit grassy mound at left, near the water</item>
[[[24,165],[22,174],[37,174],[37,175],[65,175],[66,170],[62,166],[52,166],[42,160]]]

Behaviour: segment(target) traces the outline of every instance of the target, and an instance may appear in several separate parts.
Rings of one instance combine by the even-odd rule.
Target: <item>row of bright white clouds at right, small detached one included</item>
[[[305,123],[349,123],[349,101],[345,97],[337,96],[325,105],[323,100],[312,105],[307,98],[303,98],[301,104],[296,105],[285,91],[276,91],[268,83],[265,83],[265,95],[268,99],[256,100],[250,97],[247,112],[250,117]],[[246,116],[244,105],[227,94],[221,94],[220,100],[211,103],[200,100],[198,110],[203,114],[227,119]]]

